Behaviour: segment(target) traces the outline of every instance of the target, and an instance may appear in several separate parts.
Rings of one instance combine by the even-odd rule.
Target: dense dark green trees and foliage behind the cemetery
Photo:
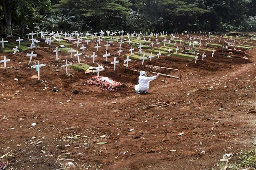
[[[256,0],[0,0],[0,31],[256,31]]]

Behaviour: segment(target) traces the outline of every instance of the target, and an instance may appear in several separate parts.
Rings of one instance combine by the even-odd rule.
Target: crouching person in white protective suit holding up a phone
[[[149,88],[149,82],[152,80],[155,80],[158,76],[159,76],[159,74],[154,75],[152,77],[147,77],[146,72],[141,71],[140,76],[139,76],[139,84],[134,86],[134,88],[136,90],[136,94],[140,94],[141,91],[142,91],[142,93],[146,93],[146,91]]]

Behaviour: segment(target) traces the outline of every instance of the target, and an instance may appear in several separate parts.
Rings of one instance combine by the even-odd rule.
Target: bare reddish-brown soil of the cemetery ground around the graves
[[[1,63],[0,157],[8,155],[0,162],[8,161],[9,168],[219,169],[223,154],[234,153],[229,163],[236,164],[241,150],[254,148],[256,116],[248,112],[256,105],[255,48],[222,52],[213,47],[214,56],[205,51],[207,57],[203,61],[199,57],[196,64],[168,55],[144,61],[144,65],[132,60],[128,69],[123,65],[123,55],[131,48],[127,44],[118,56],[119,44],[112,43],[108,52],[113,55],[105,61],[106,42],[102,41],[93,64],[88,56],[97,43],[83,42],[87,48],[80,62],[102,65],[105,70],[100,75],[124,84],[111,92],[86,83],[95,74],[68,68],[66,75],[61,65],[66,60],[76,64],[76,57],[59,51],[56,61],[56,44],[49,49],[42,41],[35,49],[4,54],[11,59],[7,69]],[[79,50],[74,41],[71,44]],[[37,57],[29,64],[26,53],[31,51]],[[229,52],[235,57],[223,56]],[[110,64],[113,56],[119,60],[116,71]],[[31,69],[37,61],[46,64],[40,68],[40,81],[30,79],[37,74]],[[135,94],[138,71],[145,70],[148,76],[155,75],[150,71],[166,73],[153,66],[180,67],[182,81],[167,78],[168,83],[163,83],[160,76],[150,83],[147,94]],[[175,70],[168,74],[180,76]],[[53,87],[59,91],[51,91]],[[79,94],[71,93],[75,89]],[[146,107],[158,101],[178,104]]]

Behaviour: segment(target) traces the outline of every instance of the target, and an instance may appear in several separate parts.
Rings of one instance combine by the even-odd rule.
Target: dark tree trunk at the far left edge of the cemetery
[[[12,0],[2,0],[3,11],[7,27],[7,37],[12,36]]]

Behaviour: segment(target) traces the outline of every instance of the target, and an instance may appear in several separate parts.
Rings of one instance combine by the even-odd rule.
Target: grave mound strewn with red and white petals
[[[93,87],[99,87],[102,90],[109,90],[109,91],[117,91],[119,88],[122,88],[124,85],[120,82],[115,82],[108,77],[97,77],[94,76],[93,78],[87,80],[87,84],[92,85]]]

